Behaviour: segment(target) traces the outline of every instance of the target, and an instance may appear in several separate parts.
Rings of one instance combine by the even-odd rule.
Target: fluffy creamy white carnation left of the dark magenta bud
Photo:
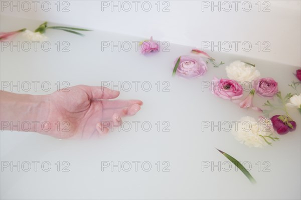
[[[261,121],[257,121],[250,116],[242,117],[240,123],[236,124],[232,127],[232,134],[240,143],[249,147],[266,146],[267,142],[263,136],[268,136],[273,132],[273,130],[267,128]]]

